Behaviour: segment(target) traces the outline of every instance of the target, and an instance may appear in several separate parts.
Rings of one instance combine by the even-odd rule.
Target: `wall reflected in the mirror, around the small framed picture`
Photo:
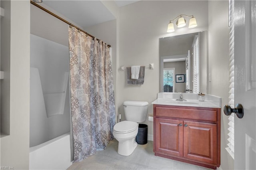
[[[175,68],[176,74],[186,74],[186,61],[167,62],[164,63],[164,68]],[[176,77],[174,77],[174,82]],[[186,93],[186,81],[184,83],[175,83],[174,92]]]

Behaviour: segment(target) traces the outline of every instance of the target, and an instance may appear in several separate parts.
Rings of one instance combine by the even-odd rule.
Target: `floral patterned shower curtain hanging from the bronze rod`
[[[106,148],[114,138],[114,87],[110,49],[96,38],[69,28],[71,113],[74,160]]]

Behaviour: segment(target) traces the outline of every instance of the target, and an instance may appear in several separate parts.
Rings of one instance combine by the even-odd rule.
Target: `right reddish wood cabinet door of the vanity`
[[[217,163],[217,125],[184,121],[184,157]]]

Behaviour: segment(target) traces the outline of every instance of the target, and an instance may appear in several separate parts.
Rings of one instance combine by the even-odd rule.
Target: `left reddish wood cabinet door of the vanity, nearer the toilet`
[[[183,121],[156,118],[155,152],[183,156]]]

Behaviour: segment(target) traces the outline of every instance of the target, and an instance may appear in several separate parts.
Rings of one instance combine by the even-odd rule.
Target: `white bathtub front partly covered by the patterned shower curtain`
[[[66,133],[57,138],[30,148],[30,170],[66,170],[71,164],[70,134]]]

